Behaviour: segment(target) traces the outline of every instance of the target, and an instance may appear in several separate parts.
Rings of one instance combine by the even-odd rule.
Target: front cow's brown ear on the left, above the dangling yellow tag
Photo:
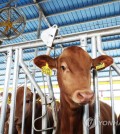
[[[39,68],[42,68],[43,66],[46,65],[46,63],[48,64],[48,66],[53,69],[53,68],[57,68],[57,58],[53,59],[48,55],[40,55],[37,56],[34,59],[34,64],[36,66],[38,66]]]

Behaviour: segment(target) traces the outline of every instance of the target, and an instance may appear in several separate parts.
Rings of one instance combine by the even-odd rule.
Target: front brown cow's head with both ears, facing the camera
[[[72,46],[64,49],[56,59],[41,55],[34,59],[34,63],[39,68],[46,63],[51,69],[56,68],[61,94],[70,101],[82,105],[94,98],[91,91],[91,68],[103,64],[98,70],[104,69],[113,63],[113,59],[105,55],[92,59],[82,48]]]

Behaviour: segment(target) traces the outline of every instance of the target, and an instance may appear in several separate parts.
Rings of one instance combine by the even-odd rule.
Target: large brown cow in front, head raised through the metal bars
[[[57,69],[57,79],[60,87],[60,111],[57,134],[83,134],[83,105],[89,103],[90,117],[94,117],[94,93],[91,90],[91,68],[104,69],[113,63],[109,56],[99,56],[92,59],[87,52],[77,46],[66,48],[56,59],[41,55],[34,59],[34,63],[42,68]],[[111,121],[111,108],[100,104],[101,121]],[[102,126],[102,134],[112,134],[112,126]],[[90,129],[90,134],[94,134]]]

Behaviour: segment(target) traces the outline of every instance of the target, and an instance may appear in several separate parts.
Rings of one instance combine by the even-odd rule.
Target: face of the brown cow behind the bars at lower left
[[[25,106],[25,118],[27,118],[32,111],[32,92],[29,88],[26,90],[26,106]],[[24,87],[19,87],[16,94],[16,110],[15,110],[15,120],[16,124],[22,123],[22,111],[23,111],[23,97],[24,97]]]

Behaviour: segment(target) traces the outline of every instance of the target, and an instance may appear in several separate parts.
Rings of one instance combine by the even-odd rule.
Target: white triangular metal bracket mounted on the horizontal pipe
[[[48,28],[47,30],[44,30],[41,33],[41,39],[48,47],[52,47],[53,40],[55,38],[55,35],[57,34],[57,31],[58,26],[53,25],[52,27]]]

